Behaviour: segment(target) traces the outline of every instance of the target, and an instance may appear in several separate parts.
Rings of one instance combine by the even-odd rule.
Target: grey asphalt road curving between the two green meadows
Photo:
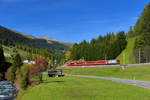
[[[128,85],[135,85],[138,87],[150,89],[150,82],[147,82],[147,81],[137,81],[137,80],[128,80],[128,79],[110,78],[110,77],[98,77],[98,76],[85,76],[85,75],[67,75],[67,76],[110,80],[110,81],[115,81],[115,82],[120,82],[120,83],[124,83],[124,84],[128,84]]]

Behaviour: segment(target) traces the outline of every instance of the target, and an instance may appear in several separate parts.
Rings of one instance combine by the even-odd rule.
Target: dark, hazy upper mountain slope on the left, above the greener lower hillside
[[[69,46],[61,42],[36,38],[3,26],[0,26],[0,42],[4,45],[25,45],[32,48],[50,49],[55,52],[64,52],[70,49]]]

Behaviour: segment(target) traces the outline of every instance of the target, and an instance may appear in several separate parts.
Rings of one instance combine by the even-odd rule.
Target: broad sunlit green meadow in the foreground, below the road
[[[150,100],[150,90],[112,81],[44,75],[44,82],[19,93],[17,100]]]

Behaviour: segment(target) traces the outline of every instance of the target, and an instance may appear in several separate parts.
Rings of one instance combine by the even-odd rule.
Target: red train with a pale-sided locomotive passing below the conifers
[[[120,60],[71,62],[67,63],[67,66],[116,65],[116,64],[120,64]]]

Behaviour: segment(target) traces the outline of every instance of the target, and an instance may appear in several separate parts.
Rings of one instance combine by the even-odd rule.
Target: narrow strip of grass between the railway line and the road
[[[73,75],[105,76],[150,81],[150,66],[127,67],[66,67],[64,73]]]

